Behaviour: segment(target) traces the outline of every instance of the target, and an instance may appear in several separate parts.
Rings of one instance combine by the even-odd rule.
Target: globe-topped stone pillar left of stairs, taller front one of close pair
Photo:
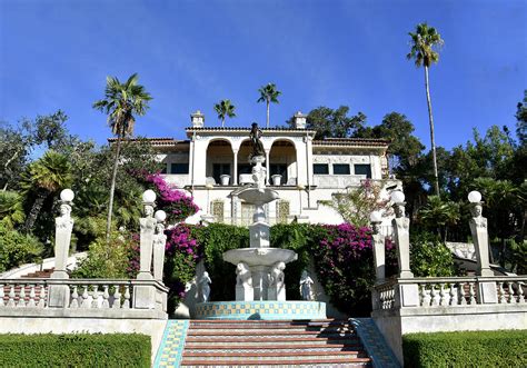
[[[139,273],[138,280],[152,280],[152,247],[153,233],[156,229],[156,219],[153,218],[153,207],[156,193],[147,190],[142,195],[145,206],[145,217],[139,219],[141,228],[140,232],[140,253],[139,253]],[[133,287],[133,307],[138,309],[155,309],[156,296],[152,286],[135,286]]]

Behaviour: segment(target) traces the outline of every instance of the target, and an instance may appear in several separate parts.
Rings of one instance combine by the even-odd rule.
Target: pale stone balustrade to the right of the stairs
[[[495,287],[486,288],[487,285]],[[400,286],[416,286],[417,304],[404,302]],[[401,291],[402,290],[402,291]],[[491,292],[491,295],[486,295]],[[438,277],[388,280],[372,288],[374,310],[391,310],[401,307],[434,308],[526,304],[527,276],[503,277]]]

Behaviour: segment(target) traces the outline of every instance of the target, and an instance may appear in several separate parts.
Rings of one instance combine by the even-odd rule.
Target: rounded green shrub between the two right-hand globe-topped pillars
[[[454,276],[454,258],[437,236],[417,233],[410,240],[410,269],[416,277]]]

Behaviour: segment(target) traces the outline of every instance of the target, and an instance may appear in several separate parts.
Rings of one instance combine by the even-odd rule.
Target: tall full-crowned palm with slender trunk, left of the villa
[[[110,200],[108,205],[107,238],[110,236],[111,215],[113,210],[113,193],[116,191],[117,167],[121,139],[133,133],[136,118],[133,115],[143,116],[148,109],[148,101],[152,99],[145,87],[138,84],[138,74],[133,73],[125,83],[116,77],[107,77],[105,99],[96,101],[93,108],[108,115],[108,123],[111,132],[117,136],[116,158],[111,175]]]

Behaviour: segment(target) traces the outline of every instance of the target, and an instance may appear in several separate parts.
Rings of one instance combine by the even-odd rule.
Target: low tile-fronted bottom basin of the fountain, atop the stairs
[[[196,319],[326,319],[326,304],[304,300],[209,301],[196,305]]]

